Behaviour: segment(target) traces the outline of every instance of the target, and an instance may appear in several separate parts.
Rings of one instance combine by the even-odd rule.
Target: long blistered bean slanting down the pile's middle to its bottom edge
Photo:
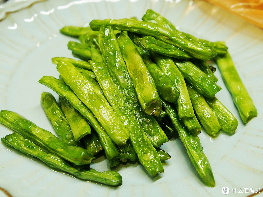
[[[156,153],[154,147],[146,137],[143,128],[140,126],[133,112],[127,107],[125,104],[125,98],[122,92],[118,89],[117,85],[114,84],[107,67],[103,63],[95,63],[90,61],[90,66],[93,72],[96,75],[96,78],[102,87],[103,93],[107,98],[108,102],[114,109],[115,113],[120,117],[120,120],[123,122],[125,127],[128,129],[130,133],[130,142],[136,154],[138,155],[138,159],[140,163],[145,167],[145,169],[151,175],[155,175],[158,172],[163,172],[163,165]],[[128,141],[129,142],[129,141]],[[123,147],[123,146],[122,146]],[[124,147],[126,148],[126,147]],[[128,156],[130,155],[131,150],[127,147]],[[122,157],[122,153],[120,152],[120,157]],[[126,158],[126,154],[124,155]],[[128,157],[131,160],[135,160],[136,158]]]

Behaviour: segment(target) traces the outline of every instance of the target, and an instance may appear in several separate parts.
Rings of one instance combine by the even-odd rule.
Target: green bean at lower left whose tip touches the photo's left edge
[[[15,112],[1,110],[0,123],[75,165],[89,164],[94,159],[86,149],[63,142]]]

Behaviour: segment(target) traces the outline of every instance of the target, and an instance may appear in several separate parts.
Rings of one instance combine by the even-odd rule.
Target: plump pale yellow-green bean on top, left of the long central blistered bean
[[[57,70],[65,83],[78,98],[92,111],[105,132],[117,144],[125,144],[129,132],[115,114],[105,97],[70,63],[58,63]],[[94,102],[96,101],[96,102]]]

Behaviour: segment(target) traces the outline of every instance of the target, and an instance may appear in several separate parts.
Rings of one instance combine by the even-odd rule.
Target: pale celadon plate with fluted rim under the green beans
[[[0,144],[0,187],[14,197],[33,196],[249,196],[263,187],[263,31],[205,1],[92,1],[48,0],[14,12],[0,22],[0,110],[15,111],[39,127],[54,132],[41,107],[43,91],[38,83],[44,75],[58,77],[55,56],[73,57],[69,40],[59,33],[65,25],[87,26],[92,19],[140,19],[146,9],[164,15],[179,30],[210,41],[225,41],[255,106],[258,116],[244,125],[224,86],[218,99],[239,121],[236,133],[221,133],[216,139],[199,135],[213,169],[216,186],[205,186],[196,173],[180,139],[171,139],[161,148],[171,155],[164,173],[149,176],[138,163],[115,169],[123,178],[119,187],[85,182],[56,172],[37,159],[24,156]],[[0,137],[11,131],[0,126]],[[92,163],[98,171],[109,170],[100,157]],[[254,193],[252,193],[254,190]],[[241,193],[242,192],[242,193]],[[262,191],[263,193],[263,191]],[[257,192],[258,196],[263,196]],[[0,196],[6,196],[0,191]]]

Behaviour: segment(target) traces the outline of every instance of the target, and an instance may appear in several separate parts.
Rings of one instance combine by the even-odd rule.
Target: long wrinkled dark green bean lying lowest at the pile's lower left
[[[34,144],[32,141],[25,139],[18,133],[9,134],[3,137],[1,140],[7,146],[10,146],[26,155],[40,159],[52,169],[71,174],[76,178],[112,186],[118,186],[122,184],[122,177],[117,172],[105,171],[100,173],[89,167],[86,167],[86,169],[82,168],[81,170],[77,169],[65,162],[59,156],[44,152],[39,146]]]

